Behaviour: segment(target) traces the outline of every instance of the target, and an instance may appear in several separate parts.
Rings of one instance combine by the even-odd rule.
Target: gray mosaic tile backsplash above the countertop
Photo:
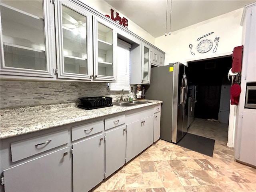
[[[125,93],[125,94],[128,94]],[[44,104],[79,102],[78,97],[108,96],[116,101],[121,92],[109,92],[107,83],[98,82],[0,82],[0,107],[16,108]]]

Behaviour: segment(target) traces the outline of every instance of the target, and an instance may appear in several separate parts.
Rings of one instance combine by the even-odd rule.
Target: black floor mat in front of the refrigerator
[[[212,157],[214,143],[214,139],[187,133],[177,145]]]

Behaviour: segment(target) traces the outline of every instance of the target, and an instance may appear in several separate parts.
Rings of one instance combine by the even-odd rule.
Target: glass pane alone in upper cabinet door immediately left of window
[[[99,22],[98,74],[113,76],[113,30]]]

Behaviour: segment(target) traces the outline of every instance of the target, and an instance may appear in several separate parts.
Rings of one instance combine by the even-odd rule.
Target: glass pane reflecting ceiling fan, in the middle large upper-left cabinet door
[[[64,72],[88,74],[86,16],[62,5]]]

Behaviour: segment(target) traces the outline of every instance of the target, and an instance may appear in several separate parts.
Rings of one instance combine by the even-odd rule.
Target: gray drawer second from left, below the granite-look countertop
[[[74,126],[71,128],[71,139],[72,141],[74,141],[80,138],[84,138],[84,137],[102,132],[103,129],[104,129],[103,120]]]

